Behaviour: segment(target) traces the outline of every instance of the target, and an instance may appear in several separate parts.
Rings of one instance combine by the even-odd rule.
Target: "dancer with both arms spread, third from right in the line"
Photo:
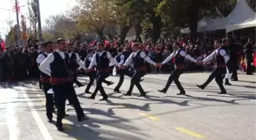
[[[128,92],[124,95],[132,95],[133,87],[134,85],[139,89],[139,96],[146,96],[146,92],[142,89],[142,86],[140,85],[140,81],[142,76],[146,74],[146,63],[147,61],[149,64],[152,64],[154,66],[157,66],[154,61],[152,61],[143,51],[139,50],[139,44],[134,43],[133,44],[133,53],[130,54],[130,57],[126,60],[125,64],[123,64],[122,69],[125,69],[127,66],[129,66],[133,62],[133,68],[135,70],[135,73],[133,73],[130,88]]]

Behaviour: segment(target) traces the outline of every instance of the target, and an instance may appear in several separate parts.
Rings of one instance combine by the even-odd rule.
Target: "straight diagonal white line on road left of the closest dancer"
[[[20,89],[24,90],[24,87],[21,86],[21,82],[19,82]],[[30,98],[28,98],[28,95],[26,92],[22,92],[24,98],[27,100],[27,105],[30,108],[31,113],[33,114],[34,120],[37,122],[37,126],[40,129],[41,134],[43,135],[43,138],[45,140],[53,140],[52,136],[50,135],[50,132],[48,129],[46,129],[46,126],[43,123],[43,120],[40,118],[39,114],[37,113],[37,110],[34,108],[34,104],[30,101]]]

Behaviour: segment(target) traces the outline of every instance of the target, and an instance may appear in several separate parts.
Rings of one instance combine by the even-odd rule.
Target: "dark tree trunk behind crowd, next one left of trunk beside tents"
[[[152,24],[153,24],[153,36],[152,41],[155,43],[158,41],[158,39],[161,38],[161,30],[162,30],[162,19],[160,16],[156,16],[152,18]]]

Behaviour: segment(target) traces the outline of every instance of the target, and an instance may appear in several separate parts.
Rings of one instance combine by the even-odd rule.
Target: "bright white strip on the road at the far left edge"
[[[11,103],[13,99],[17,99],[18,92],[9,89],[8,82],[5,82],[5,91],[8,93],[8,104],[7,104],[7,121],[8,121],[8,128],[9,128],[9,139],[10,140],[17,140],[18,135],[18,127],[17,127],[17,118],[15,117],[15,106],[16,104]]]

